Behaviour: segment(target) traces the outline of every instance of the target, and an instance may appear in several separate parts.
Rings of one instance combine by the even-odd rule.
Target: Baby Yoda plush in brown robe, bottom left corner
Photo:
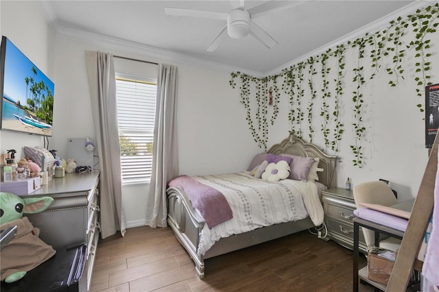
[[[0,252],[1,280],[15,282],[54,256],[56,251],[42,241],[40,230],[34,228],[23,213],[34,214],[46,210],[54,201],[51,197],[22,198],[11,193],[0,192],[0,229],[17,226],[14,239]]]

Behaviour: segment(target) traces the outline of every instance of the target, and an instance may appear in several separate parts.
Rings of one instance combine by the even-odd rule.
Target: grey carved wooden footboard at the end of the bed
[[[195,263],[198,277],[204,278],[204,258],[198,256],[200,232],[204,227],[204,219],[193,209],[189,198],[179,188],[167,189],[167,223]]]

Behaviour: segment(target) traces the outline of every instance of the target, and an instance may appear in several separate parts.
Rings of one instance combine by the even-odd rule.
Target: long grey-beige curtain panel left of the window
[[[86,51],[95,142],[99,156],[101,237],[126,232],[122,206],[119,129],[117,124],[116,77],[112,54]]]

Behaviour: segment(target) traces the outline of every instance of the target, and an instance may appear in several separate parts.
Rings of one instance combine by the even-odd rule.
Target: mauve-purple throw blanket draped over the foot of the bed
[[[233,218],[232,209],[226,197],[215,188],[206,186],[187,175],[172,179],[168,185],[182,188],[185,191],[193,208],[200,211],[209,228]]]

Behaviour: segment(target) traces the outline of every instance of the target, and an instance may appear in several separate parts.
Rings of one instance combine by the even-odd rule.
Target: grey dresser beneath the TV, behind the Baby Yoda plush
[[[40,239],[54,249],[86,244],[81,286],[90,291],[99,241],[99,172],[66,173],[64,178],[49,180],[30,196],[55,199],[44,212],[25,215],[40,228]]]

